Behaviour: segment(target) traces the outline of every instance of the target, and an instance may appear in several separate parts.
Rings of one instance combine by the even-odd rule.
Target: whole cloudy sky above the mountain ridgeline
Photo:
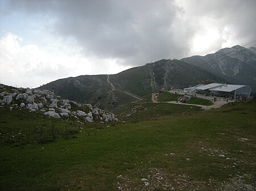
[[[0,0],[0,83],[35,88],[245,45],[256,40],[255,8],[255,0]]]

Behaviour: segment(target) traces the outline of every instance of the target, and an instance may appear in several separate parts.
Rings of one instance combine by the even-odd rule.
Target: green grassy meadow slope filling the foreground
[[[44,145],[2,144],[0,189],[216,190],[236,179],[255,189],[255,114],[254,101],[187,116],[84,127],[79,138]]]

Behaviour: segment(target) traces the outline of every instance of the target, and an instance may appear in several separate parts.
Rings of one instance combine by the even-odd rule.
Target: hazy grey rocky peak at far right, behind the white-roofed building
[[[181,61],[198,66],[225,81],[249,85],[256,92],[256,48],[240,45],[218,50],[206,56],[192,56]]]

